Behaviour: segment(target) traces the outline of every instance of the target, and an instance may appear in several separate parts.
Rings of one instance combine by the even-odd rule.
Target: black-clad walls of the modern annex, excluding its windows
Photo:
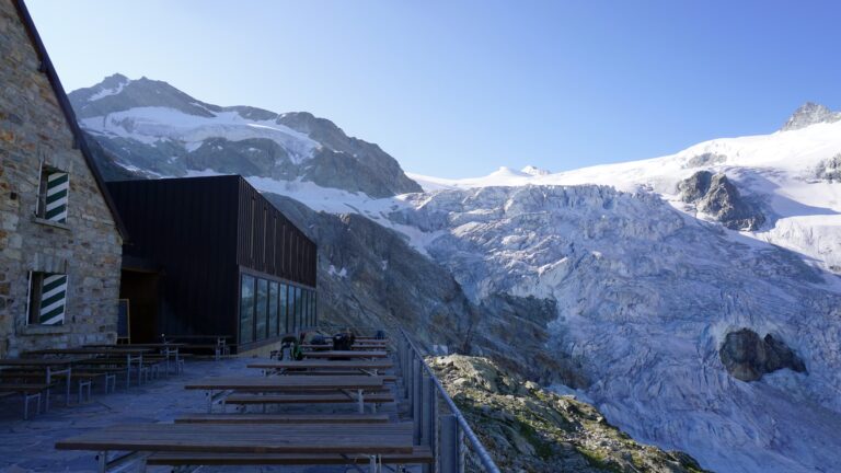
[[[123,181],[108,189],[131,234],[120,291],[137,301],[133,342],[227,335],[240,344],[240,274],[315,287],[315,243],[241,176]]]

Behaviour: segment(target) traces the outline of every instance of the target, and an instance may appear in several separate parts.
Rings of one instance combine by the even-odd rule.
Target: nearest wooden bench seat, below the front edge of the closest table
[[[385,453],[380,457],[387,464],[423,464],[435,460],[429,447],[414,447],[412,453]],[[152,453],[148,465],[329,465],[368,464],[365,454],[336,453]]]

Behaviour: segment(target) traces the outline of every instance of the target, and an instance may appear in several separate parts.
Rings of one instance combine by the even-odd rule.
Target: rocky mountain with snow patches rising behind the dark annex
[[[309,113],[221,107],[166,82],[120,74],[69,97],[82,128],[102,149],[147,177],[234,173],[376,197],[420,189],[377,145]]]

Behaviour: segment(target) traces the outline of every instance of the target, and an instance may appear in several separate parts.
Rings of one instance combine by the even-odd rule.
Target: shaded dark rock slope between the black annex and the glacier
[[[402,234],[356,214],[315,212],[265,195],[319,245],[322,322],[400,326],[424,345],[487,356],[533,380],[585,383],[572,360],[546,349],[554,300],[496,293],[475,303]]]

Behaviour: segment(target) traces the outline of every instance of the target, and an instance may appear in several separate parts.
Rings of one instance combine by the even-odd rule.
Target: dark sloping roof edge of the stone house
[[[61,81],[58,79],[56,69],[53,67],[53,61],[49,59],[49,55],[47,55],[47,49],[44,47],[44,43],[41,41],[41,35],[38,35],[37,28],[35,28],[35,23],[32,21],[30,11],[26,9],[26,4],[23,0],[14,0],[14,8],[18,10],[18,15],[21,19],[21,22],[26,27],[26,33],[30,36],[32,45],[35,47],[35,51],[38,54],[38,58],[41,59],[39,70],[47,74],[49,83],[53,85],[53,92],[56,94],[58,105],[61,108],[61,112],[64,112],[65,118],[70,126],[76,146],[84,157],[84,161],[88,164],[88,168],[91,170],[94,181],[96,181],[96,187],[99,187],[100,194],[102,194],[102,197],[105,199],[105,204],[107,204],[108,209],[111,210],[111,216],[114,218],[114,223],[117,227],[117,231],[119,232],[120,236],[123,236],[123,241],[125,242],[128,240],[126,226],[123,223],[123,219],[119,217],[119,212],[117,211],[117,207],[114,204],[114,199],[112,199],[111,194],[108,193],[108,188],[105,186],[105,180],[102,177],[100,170],[96,168],[96,163],[93,161],[91,150],[88,148],[88,142],[84,140],[82,130],[79,128],[79,123],[76,120],[76,113],[73,112],[72,106],[70,106],[70,101],[67,99],[65,88],[61,86]]]

